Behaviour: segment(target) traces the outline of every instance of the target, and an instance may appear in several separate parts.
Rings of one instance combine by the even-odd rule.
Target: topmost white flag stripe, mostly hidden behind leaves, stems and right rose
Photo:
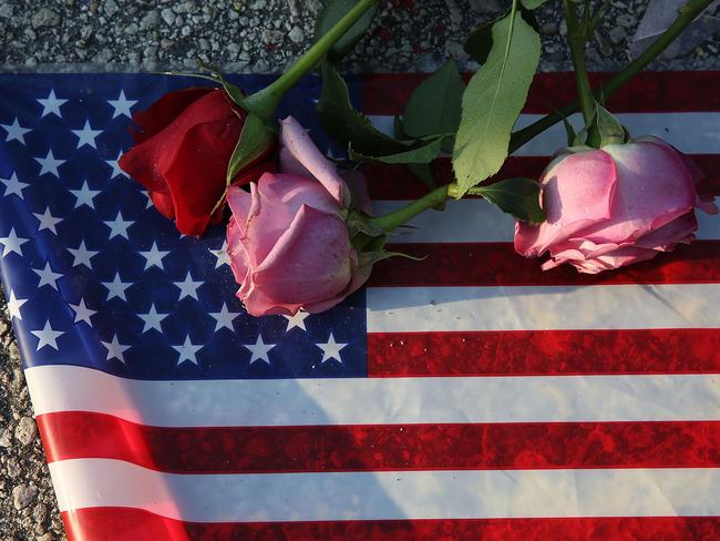
[[[620,113],[617,115],[630,131],[630,135],[656,135],[690,154],[720,153],[720,112],[714,113]],[[532,124],[542,114],[521,114],[516,129]],[[383,133],[392,135],[393,116],[370,116],[372,123]],[[579,114],[570,116],[572,124],[579,131],[583,120]],[[546,156],[567,146],[563,124],[555,124],[515,152],[520,156]]]

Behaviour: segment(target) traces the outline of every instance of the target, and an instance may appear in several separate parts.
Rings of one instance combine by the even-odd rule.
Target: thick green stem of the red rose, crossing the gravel
[[[290,90],[300,78],[309,73],[322,60],[335,43],[350,30],[350,28],[376,3],[377,0],[359,0],[348,13],[340,19],[325,35],[322,35],[308,51],[295,61],[275,82],[250,95],[245,104],[249,111],[265,120],[269,120],[280,103],[285,93]]]

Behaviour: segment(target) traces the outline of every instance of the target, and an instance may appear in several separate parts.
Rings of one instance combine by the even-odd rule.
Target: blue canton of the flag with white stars
[[[268,79],[235,82],[251,92]],[[117,167],[131,114],[196,84],[0,75],[0,274],[24,363],[140,379],[366,376],[363,292],[323,314],[248,316],[224,227],[181,236]],[[312,114],[319,86],[306,80],[280,116],[328,150]]]

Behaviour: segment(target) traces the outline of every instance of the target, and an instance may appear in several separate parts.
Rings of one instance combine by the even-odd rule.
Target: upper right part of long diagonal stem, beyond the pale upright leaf
[[[607,98],[615,91],[627,84],[639,71],[644,70],[655,58],[665,51],[672,41],[688,28],[688,25],[702,13],[713,0],[689,0],[678,11],[678,17],[672,24],[650,45],[642,54],[640,54],[632,62],[627,64],[623,71],[616,73],[607,83],[600,86],[595,92],[596,98]],[[579,103],[573,102],[565,105],[557,113],[548,114],[537,122],[523,127],[522,130],[513,133],[510,142],[510,151],[514,152],[531,139],[541,134],[548,127],[557,124],[563,119],[579,111]]]

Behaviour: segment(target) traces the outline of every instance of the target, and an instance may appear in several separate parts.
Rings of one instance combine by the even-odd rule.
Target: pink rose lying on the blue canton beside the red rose
[[[370,275],[346,224],[349,185],[295,119],[281,124],[280,173],[264,174],[250,193],[234,186],[227,195],[237,296],[253,316],[327,310]],[[347,178],[358,184],[367,210],[358,178]]]

